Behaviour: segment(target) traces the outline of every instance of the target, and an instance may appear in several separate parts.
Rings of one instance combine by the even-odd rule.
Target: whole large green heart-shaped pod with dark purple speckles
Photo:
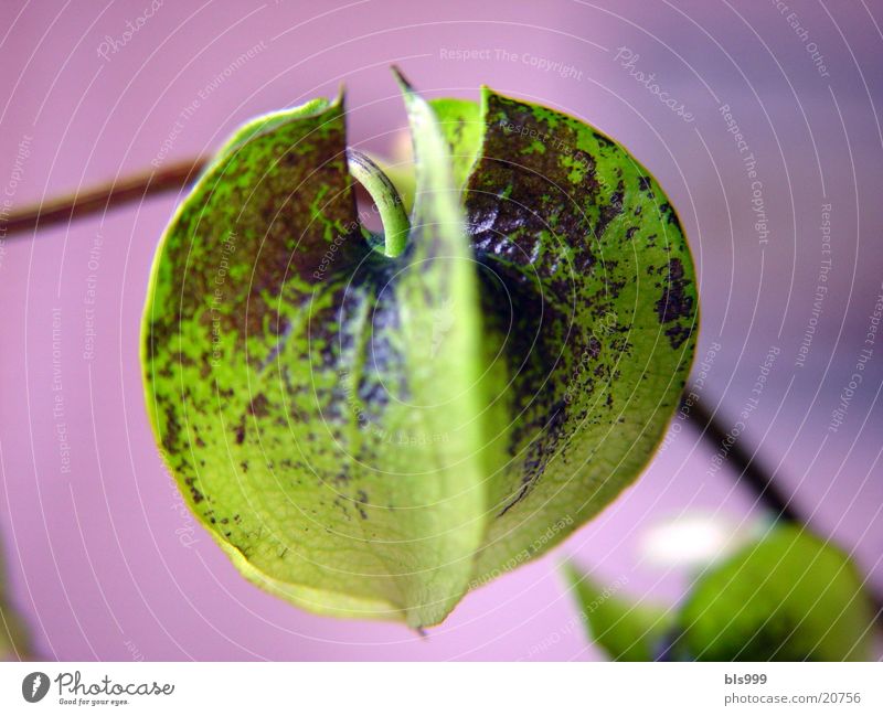
[[[361,226],[342,98],[249,122],[163,236],[142,362],[164,459],[246,577],[424,627],[637,477],[689,368],[695,289],[677,217],[617,145],[400,82],[409,222],[351,161],[390,203],[384,236]],[[594,153],[522,151],[503,106]]]

